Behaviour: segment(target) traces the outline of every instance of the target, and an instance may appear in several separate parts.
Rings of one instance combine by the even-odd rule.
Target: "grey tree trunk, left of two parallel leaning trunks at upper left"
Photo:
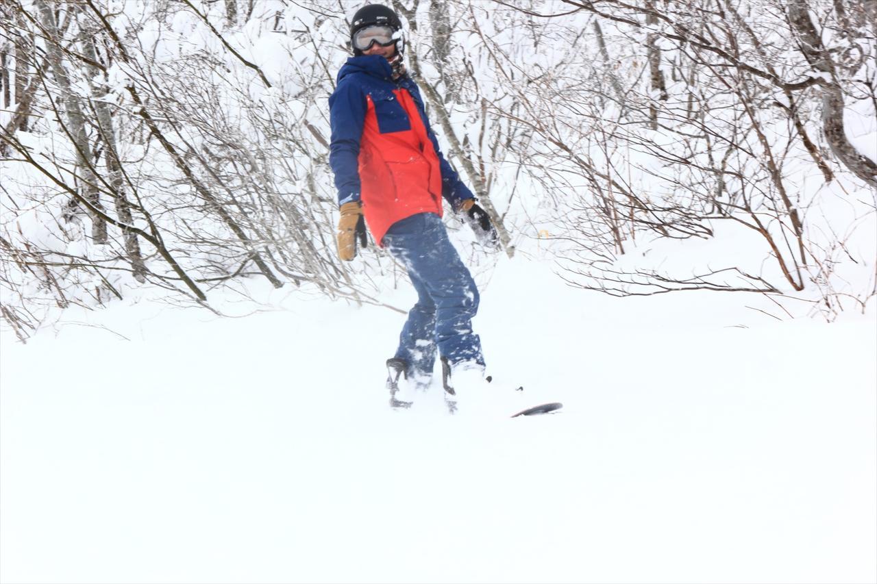
[[[89,146],[88,135],[85,132],[85,116],[82,114],[82,104],[79,96],[75,95],[71,87],[67,69],[64,68],[63,53],[61,52],[61,39],[59,39],[58,25],[52,7],[46,0],[36,0],[37,8],[42,19],[42,25],[46,31],[46,53],[49,66],[58,83],[61,99],[64,102],[64,110],[67,114],[66,131],[73,142],[76,152],[76,166],[82,168],[82,193],[83,198],[97,210],[102,210],[97,193],[97,177],[94,173],[94,156]],[[60,112],[59,112],[60,113]],[[90,212],[91,215],[91,238],[96,244],[103,245],[107,242],[107,224],[103,217]]]

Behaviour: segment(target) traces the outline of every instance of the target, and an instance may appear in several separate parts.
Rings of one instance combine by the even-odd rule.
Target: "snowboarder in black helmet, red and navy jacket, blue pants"
[[[464,378],[483,381],[485,364],[472,330],[478,288],[448,239],[442,197],[482,244],[498,246],[496,229],[439,149],[420,90],[403,65],[396,12],[380,4],[360,8],[350,42],[353,57],[329,98],[339,258],[353,260],[357,240],[367,245],[367,224],[377,245],[403,264],[418,298],[387,362],[391,378],[403,374],[409,384],[427,387],[438,351],[445,387],[454,393]]]

